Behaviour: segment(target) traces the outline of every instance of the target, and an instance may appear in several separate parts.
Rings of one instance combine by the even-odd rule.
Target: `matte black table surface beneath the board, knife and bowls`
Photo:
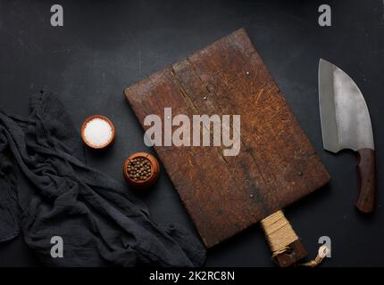
[[[55,28],[50,25],[52,4],[0,0],[1,108],[25,116],[29,95],[47,87],[60,97],[77,127],[93,114],[111,118],[116,142],[98,154],[87,151],[87,159],[124,183],[121,166],[129,154],[153,150],[143,142],[123,88],[244,27],[333,178],[286,209],[309,256],[316,254],[319,238],[328,236],[331,257],[321,266],[384,265],[382,0],[61,1],[64,26]],[[320,4],[330,4],[331,27],[318,24]],[[378,200],[370,216],[354,207],[355,153],[334,155],[322,149],[320,58],[355,80],[370,109],[378,155]],[[154,221],[183,224],[195,232],[165,171],[152,190],[139,195]],[[34,265],[40,263],[22,237],[0,244],[0,266]],[[263,231],[255,224],[210,249],[205,265],[273,263]]]

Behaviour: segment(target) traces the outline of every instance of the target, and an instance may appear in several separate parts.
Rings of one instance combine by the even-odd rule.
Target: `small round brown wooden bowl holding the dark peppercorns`
[[[151,166],[151,174],[149,175],[146,180],[134,180],[133,178],[129,177],[128,173],[128,165],[129,161],[136,159],[136,158],[145,158],[149,160],[150,166]],[[154,158],[153,155],[146,153],[146,152],[137,152],[132,154],[127,160],[125,160],[124,166],[122,167],[122,174],[124,175],[124,178],[128,181],[128,183],[136,188],[145,188],[153,183],[156,182],[157,178],[159,177],[160,173],[160,167],[159,162],[157,159]]]

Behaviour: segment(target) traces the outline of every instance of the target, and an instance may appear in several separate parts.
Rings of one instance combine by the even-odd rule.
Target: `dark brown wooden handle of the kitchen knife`
[[[361,149],[357,153],[359,183],[355,206],[363,213],[370,213],[374,208],[376,198],[375,151]]]

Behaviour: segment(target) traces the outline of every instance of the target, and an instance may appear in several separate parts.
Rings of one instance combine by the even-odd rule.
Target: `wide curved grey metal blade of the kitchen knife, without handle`
[[[319,104],[325,150],[374,150],[370,113],[359,87],[343,70],[322,59]]]

